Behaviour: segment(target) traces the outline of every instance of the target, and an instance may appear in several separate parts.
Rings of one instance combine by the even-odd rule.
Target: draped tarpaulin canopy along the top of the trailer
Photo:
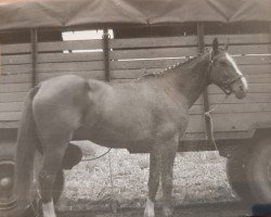
[[[271,22],[271,0],[0,0],[0,30]]]

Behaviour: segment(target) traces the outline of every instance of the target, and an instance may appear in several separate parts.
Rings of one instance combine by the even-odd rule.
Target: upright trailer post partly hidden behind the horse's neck
[[[204,24],[197,23],[197,42],[198,42],[198,53],[203,53],[205,49],[205,42],[204,42]],[[203,99],[204,99],[204,112],[209,111],[209,99],[208,99],[208,91],[207,88],[203,92]],[[204,116],[205,118],[205,129],[206,129],[206,136],[207,140],[211,141],[211,123],[210,118],[208,116]]]

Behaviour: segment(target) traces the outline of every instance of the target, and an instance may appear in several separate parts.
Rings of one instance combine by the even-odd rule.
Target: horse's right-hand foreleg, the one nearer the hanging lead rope
[[[163,214],[165,217],[172,216],[173,163],[178,145],[178,139],[175,138],[166,142],[162,148]]]

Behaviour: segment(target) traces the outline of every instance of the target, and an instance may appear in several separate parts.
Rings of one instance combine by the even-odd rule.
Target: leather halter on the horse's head
[[[211,67],[214,66],[214,60],[212,60],[212,50],[209,51],[209,66],[208,66],[208,80],[209,80],[209,84],[212,84],[214,81],[211,80]],[[219,88],[227,94],[227,95],[230,95],[233,90],[231,88],[231,85],[233,82],[235,82],[236,80],[240,80],[241,78],[243,78],[244,76],[243,75],[240,75],[240,74],[236,74],[237,76],[230,79],[230,80],[227,80],[222,84],[219,85]],[[215,82],[214,82],[215,84]]]

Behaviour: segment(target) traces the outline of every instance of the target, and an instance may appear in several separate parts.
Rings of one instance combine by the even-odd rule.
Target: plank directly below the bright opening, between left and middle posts
[[[101,39],[39,42],[38,52],[64,50],[96,50],[103,48]]]

